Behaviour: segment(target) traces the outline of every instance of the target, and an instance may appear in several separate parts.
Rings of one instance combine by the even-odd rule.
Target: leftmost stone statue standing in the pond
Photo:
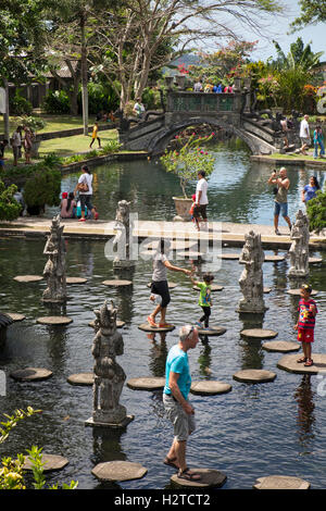
[[[43,270],[48,287],[43,291],[42,300],[54,303],[66,300],[63,228],[64,226],[60,225],[60,215],[53,216],[50,235],[43,250],[43,254],[48,256],[49,259]]]

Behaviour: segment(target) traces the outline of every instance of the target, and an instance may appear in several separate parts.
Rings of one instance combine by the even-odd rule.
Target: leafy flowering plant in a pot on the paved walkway
[[[175,220],[190,221],[189,209],[192,199],[187,197],[186,187],[189,180],[197,179],[199,171],[205,171],[209,176],[214,170],[215,157],[206,151],[202,145],[210,141],[214,133],[206,137],[197,137],[193,133],[180,149],[165,151],[161,162],[167,172],[178,176],[183,197],[173,197],[177,216]],[[176,139],[183,139],[176,136]]]

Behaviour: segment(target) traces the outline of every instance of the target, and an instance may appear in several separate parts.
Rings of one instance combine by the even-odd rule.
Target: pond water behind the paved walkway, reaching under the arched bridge
[[[216,160],[209,178],[209,219],[211,221],[273,224],[274,196],[267,179],[273,167],[250,160],[250,153],[239,140],[212,146]],[[166,220],[175,216],[173,196],[181,195],[178,178],[168,174],[160,161],[138,160],[110,162],[95,167],[93,203],[100,219],[113,220],[117,201],[131,201],[131,210],[139,220]],[[291,182],[289,191],[289,215],[293,217],[301,202],[301,190],[315,175],[324,183],[325,173],[312,169],[289,166]],[[62,191],[75,188],[79,173],[68,174],[62,179]],[[196,190],[196,182],[188,187],[189,197]],[[47,211],[52,216],[55,209]],[[285,225],[280,220],[280,225]]]

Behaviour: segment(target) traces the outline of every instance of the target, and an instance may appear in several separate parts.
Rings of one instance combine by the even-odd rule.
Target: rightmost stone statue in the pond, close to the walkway
[[[292,245],[290,254],[290,277],[306,277],[309,275],[309,219],[306,214],[298,211],[296,223],[291,229]]]

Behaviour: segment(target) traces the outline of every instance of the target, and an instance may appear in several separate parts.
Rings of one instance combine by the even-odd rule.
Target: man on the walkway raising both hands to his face
[[[268,179],[268,185],[274,185],[275,192],[275,205],[274,205],[274,229],[277,236],[280,236],[278,230],[278,219],[279,213],[286,221],[291,230],[292,224],[288,216],[288,190],[290,187],[290,179],[287,176],[287,170],[283,166],[279,171],[279,176],[276,175],[276,171],[273,172]]]

